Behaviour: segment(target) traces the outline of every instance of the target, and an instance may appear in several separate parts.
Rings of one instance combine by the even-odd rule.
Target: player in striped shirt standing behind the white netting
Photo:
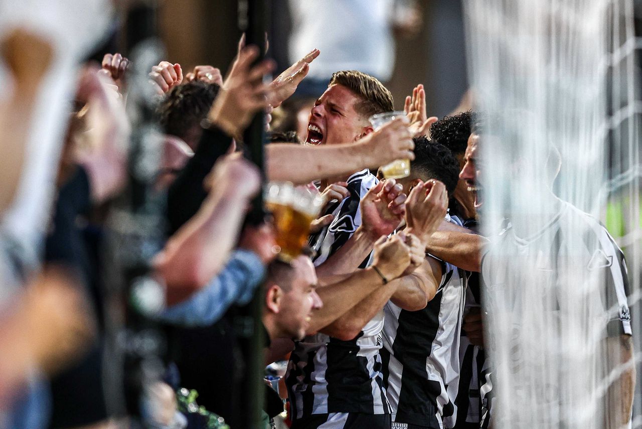
[[[485,139],[495,139],[493,150],[508,154],[508,165],[499,172],[503,175],[496,176],[498,183],[529,184],[531,173],[539,179],[532,180],[536,185],[528,186],[526,195],[501,200],[510,224],[494,239],[482,265],[488,317],[499,344],[491,357],[498,377],[505,378],[499,382],[510,385],[510,418],[519,421],[524,410],[519,405],[528,403],[537,407],[528,410],[530,416],[550,416],[561,425],[577,425],[578,418],[586,417],[593,419],[593,425],[595,418],[604,419],[598,426],[605,428],[627,425],[635,379],[634,369],[626,366],[633,359],[632,331],[621,250],[598,220],[553,193],[561,165],[554,146],[532,148],[526,160],[515,150],[514,139],[505,144],[508,139],[482,136],[471,135],[460,174],[474,193],[476,207],[484,202],[481,191],[488,179],[482,174],[490,174],[482,171],[478,158]],[[525,287],[535,284],[537,288]],[[533,314],[529,308],[533,306],[541,311]],[[534,351],[526,348],[528,344],[537,344],[537,353],[528,353]],[[575,344],[575,353],[569,353],[570,344]],[[540,366],[546,362],[552,367]],[[583,401],[587,398],[583,395],[593,391],[574,386],[586,387],[589,380],[607,383],[616,367],[621,375],[609,383],[602,407],[599,402],[591,407],[596,414],[576,408],[584,407],[578,399]],[[541,395],[535,405],[532,394]],[[566,421],[569,418],[575,421]],[[482,423],[488,422],[482,419]]]

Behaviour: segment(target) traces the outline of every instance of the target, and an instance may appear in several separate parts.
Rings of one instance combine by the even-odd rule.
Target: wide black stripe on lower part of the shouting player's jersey
[[[330,337],[326,347],[325,381],[327,381],[327,411],[374,413],[372,380],[367,356],[357,356],[357,340],[363,331],[350,341]],[[385,395],[381,394],[383,398]],[[386,408],[386,407],[384,407]],[[388,414],[387,409],[385,414]],[[307,415],[304,413],[304,415]]]

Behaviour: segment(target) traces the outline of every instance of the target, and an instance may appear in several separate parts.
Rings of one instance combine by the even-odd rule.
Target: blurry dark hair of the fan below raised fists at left
[[[200,137],[200,122],[207,118],[219,90],[218,84],[202,80],[173,87],[156,109],[163,132],[180,137],[189,146],[196,144]]]

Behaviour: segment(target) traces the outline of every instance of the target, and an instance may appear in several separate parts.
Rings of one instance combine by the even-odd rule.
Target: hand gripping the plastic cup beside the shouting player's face
[[[395,159],[415,159],[415,143],[408,131],[406,119],[397,118],[374,132],[362,137],[361,142],[364,164],[368,168],[395,161]]]

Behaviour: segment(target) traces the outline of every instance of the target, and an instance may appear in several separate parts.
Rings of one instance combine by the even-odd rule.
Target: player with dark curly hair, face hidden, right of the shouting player
[[[418,182],[437,179],[455,192],[459,166],[445,146],[415,137],[415,160],[409,177],[400,179],[409,193]],[[450,222],[460,225],[457,218]],[[393,428],[441,429],[455,423],[460,331],[467,273],[426,255],[437,264],[438,288],[418,310],[404,309],[394,299],[384,308],[384,387],[392,408]]]

